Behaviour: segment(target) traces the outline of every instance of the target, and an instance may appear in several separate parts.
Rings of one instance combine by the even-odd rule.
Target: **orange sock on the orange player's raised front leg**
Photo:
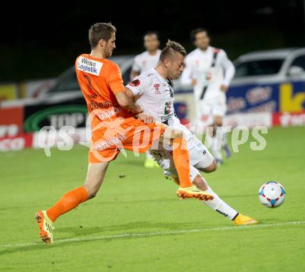
[[[173,140],[173,158],[178,172],[180,187],[191,187],[189,177],[189,151],[187,150],[186,140],[184,138],[175,138]]]

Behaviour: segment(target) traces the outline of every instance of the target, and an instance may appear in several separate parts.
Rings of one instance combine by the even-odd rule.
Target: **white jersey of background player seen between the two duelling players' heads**
[[[134,62],[132,64],[132,71],[143,73],[155,67],[159,62],[160,54],[161,54],[161,50],[158,49],[155,55],[150,55],[148,51],[136,55],[136,57],[134,57]]]

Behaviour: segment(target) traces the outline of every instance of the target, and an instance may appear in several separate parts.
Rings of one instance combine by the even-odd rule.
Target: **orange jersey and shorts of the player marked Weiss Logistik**
[[[125,87],[114,62],[82,54],[76,59],[76,75],[91,115],[89,163],[113,161],[121,148],[146,152],[164,133],[164,127],[134,119],[119,105],[115,93]]]

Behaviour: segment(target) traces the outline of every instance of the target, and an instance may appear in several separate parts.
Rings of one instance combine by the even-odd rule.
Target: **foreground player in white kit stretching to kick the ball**
[[[151,122],[156,120],[184,132],[189,149],[191,181],[200,190],[204,190],[214,197],[211,201],[205,201],[204,204],[231,219],[236,225],[256,224],[256,220],[238,213],[220,199],[209,188],[207,181],[198,171],[213,172],[217,165],[209,150],[175,116],[173,80],[178,78],[183,71],[185,55],[186,51],[183,46],[177,42],[168,41],[162,50],[157,66],[134,78],[126,86],[126,93],[133,100],[137,100],[137,104],[145,114],[153,116]],[[164,170],[164,174],[171,176],[179,184],[169,146],[159,146],[157,149],[152,149],[151,153]]]

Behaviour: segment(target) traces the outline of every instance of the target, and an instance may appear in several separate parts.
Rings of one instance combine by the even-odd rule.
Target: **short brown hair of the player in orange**
[[[96,23],[89,28],[89,43],[91,48],[98,45],[100,39],[105,39],[106,42],[111,38],[111,34],[116,33],[115,26],[110,23]]]

